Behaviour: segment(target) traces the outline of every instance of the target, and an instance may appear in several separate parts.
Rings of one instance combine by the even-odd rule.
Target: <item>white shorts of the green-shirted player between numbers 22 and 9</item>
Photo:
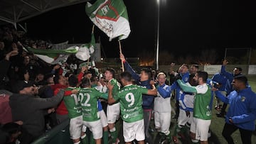
[[[120,103],[107,105],[107,123],[115,123],[119,118]]]

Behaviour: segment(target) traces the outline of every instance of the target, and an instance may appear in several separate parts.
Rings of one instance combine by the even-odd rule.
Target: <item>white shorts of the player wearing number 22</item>
[[[90,129],[94,139],[102,138],[102,124],[100,119],[97,121],[82,121],[82,123]]]

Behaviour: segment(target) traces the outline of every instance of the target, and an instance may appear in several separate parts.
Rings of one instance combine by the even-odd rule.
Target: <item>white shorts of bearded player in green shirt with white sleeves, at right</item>
[[[193,118],[190,131],[192,133],[196,133],[196,140],[208,141],[209,127],[210,127],[210,120]]]

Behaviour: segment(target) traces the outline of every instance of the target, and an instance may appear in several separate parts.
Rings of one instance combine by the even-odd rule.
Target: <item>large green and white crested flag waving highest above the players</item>
[[[126,6],[122,0],[97,0],[87,2],[85,12],[100,30],[110,37],[125,39],[131,32]]]

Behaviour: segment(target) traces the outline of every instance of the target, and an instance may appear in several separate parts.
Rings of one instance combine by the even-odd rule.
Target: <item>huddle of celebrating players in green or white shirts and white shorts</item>
[[[166,143],[178,143],[178,134],[189,129],[192,143],[208,143],[214,92],[213,81],[208,73],[186,64],[174,74],[174,83],[166,83],[165,72],[159,72],[151,79],[151,70],[143,68],[137,74],[124,55],[120,53],[124,72],[115,79],[112,68],[105,70],[107,84],[92,84],[84,74],[70,74],[69,87],[65,89],[63,101],[70,118],[70,136],[75,144],[88,143],[85,133],[92,133],[91,143],[120,143],[116,121],[122,118],[125,143],[154,143],[149,134],[151,114],[154,113],[154,127]],[[82,67],[81,72],[85,72]],[[241,78],[242,77],[242,78]],[[246,83],[244,76],[234,77],[235,82]],[[105,87],[105,90],[103,90]],[[171,125],[171,96],[176,95],[178,118],[174,133]],[[218,93],[218,98],[223,99]],[[102,111],[101,100],[107,101],[107,112]],[[177,109],[177,108],[176,108]],[[120,116],[119,116],[120,115]],[[233,119],[229,120],[233,123]],[[103,140],[102,140],[103,139]]]

